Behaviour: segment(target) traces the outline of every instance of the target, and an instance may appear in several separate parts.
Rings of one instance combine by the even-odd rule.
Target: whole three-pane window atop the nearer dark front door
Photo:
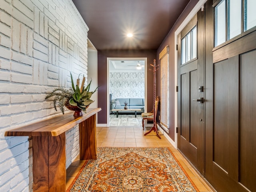
[[[220,1],[215,7],[215,46],[256,26],[255,7],[256,0]]]

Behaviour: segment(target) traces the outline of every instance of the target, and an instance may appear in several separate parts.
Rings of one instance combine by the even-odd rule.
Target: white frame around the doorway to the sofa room
[[[145,62],[145,65],[144,65],[144,74],[145,74],[145,79],[144,79],[144,95],[145,95],[145,105],[144,105],[144,111],[147,112],[147,105],[146,103],[147,102],[147,97],[148,97],[148,94],[147,94],[147,79],[148,79],[148,74],[147,74],[147,68],[148,68],[148,58],[146,57],[132,57],[132,58],[123,58],[123,57],[114,57],[114,58],[111,58],[111,57],[108,57],[107,58],[107,127],[109,127],[109,106],[110,106],[110,103],[109,103],[109,62],[110,61],[113,61],[113,60],[116,60],[116,61],[119,61],[119,60],[126,60],[126,61],[129,61],[129,60],[144,60]]]

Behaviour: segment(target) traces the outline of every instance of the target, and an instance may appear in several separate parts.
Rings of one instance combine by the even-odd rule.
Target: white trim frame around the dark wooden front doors
[[[197,14],[197,12],[201,9],[204,9],[204,4],[207,0],[199,0],[196,6],[191,10],[191,12],[188,14],[188,16],[184,19],[182,24],[177,28],[177,30],[174,32],[174,50],[176,50],[176,45],[178,44],[178,34],[182,31],[182,29],[190,22],[190,20]],[[175,73],[175,87],[178,86],[178,50],[175,51],[174,54],[174,73]],[[178,92],[175,90],[175,127],[178,127]],[[177,149],[178,146],[178,133],[175,133],[175,148]]]

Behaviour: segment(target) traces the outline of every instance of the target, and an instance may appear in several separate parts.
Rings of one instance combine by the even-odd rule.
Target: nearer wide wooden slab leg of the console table
[[[66,191],[66,134],[32,136],[33,191]]]

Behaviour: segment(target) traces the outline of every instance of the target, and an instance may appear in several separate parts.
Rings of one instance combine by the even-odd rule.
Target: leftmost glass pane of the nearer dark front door
[[[225,1],[223,0],[215,8],[215,46],[224,43],[226,40],[225,7]]]

